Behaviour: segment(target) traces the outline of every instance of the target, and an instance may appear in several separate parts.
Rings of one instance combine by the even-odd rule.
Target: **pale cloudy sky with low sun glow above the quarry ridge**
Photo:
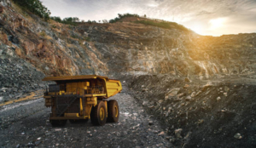
[[[118,14],[146,14],[177,22],[198,34],[256,32],[256,0],[41,0],[51,16],[111,20]]]

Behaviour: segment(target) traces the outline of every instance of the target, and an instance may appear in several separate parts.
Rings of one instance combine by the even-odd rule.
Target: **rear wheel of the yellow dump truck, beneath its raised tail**
[[[108,101],[108,122],[119,121],[119,104],[116,100]]]

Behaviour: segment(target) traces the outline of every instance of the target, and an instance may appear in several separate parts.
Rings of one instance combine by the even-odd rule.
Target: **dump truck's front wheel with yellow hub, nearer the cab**
[[[98,105],[91,108],[90,121],[94,125],[105,125],[107,122],[107,109],[104,101],[100,101]]]

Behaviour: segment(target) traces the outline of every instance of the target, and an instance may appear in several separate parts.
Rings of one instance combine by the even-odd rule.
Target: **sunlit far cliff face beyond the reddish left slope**
[[[200,79],[253,77],[256,34],[202,37],[132,23],[79,26],[89,34],[108,74],[159,75]]]

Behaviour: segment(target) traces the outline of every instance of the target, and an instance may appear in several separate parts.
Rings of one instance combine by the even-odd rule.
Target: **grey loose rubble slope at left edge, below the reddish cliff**
[[[0,103],[44,89],[44,73],[15,55],[15,48],[0,45]]]

